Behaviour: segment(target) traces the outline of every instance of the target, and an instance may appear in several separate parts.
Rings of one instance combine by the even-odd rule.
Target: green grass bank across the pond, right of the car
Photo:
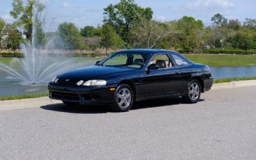
[[[195,63],[209,66],[255,66],[256,55],[183,54]]]

